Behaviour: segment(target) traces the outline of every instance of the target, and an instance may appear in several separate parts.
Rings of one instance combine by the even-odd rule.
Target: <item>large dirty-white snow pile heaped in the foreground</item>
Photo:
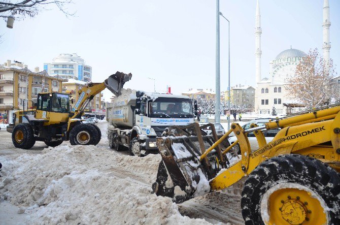
[[[130,172],[135,177],[151,180],[157,173],[158,155],[140,158],[95,146],[66,145],[16,160],[0,157],[0,161],[4,176],[0,195],[18,205],[20,213],[29,214],[29,223],[208,223],[182,216],[170,198],[151,194],[149,183],[114,173],[134,165]],[[134,171],[139,167],[145,169]],[[150,171],[154,174],[145,178]]]

